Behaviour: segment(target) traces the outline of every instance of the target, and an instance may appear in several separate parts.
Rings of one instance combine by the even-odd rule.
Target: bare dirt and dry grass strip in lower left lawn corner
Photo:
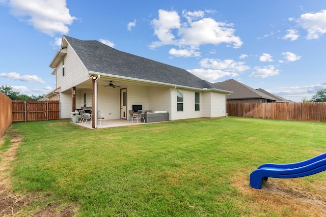
[[[10,130],[8,130],[10,131]],[[48,203],[49,196],[38,194],[18,194],[12,189],[12,161],[17,156],[17,148],[23,138],[21,135],[11,132],[11,145],[0,152],[0,216],[74,216],[77,213],[76,206],[59,202]],[[0,145],[4,139],[0,140]],[[40,206],[35,206],[38,201]]]

